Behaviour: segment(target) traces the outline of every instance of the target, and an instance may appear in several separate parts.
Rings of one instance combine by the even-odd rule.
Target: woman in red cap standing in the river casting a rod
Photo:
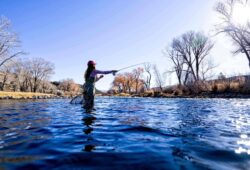
[[[115,74],[116,70],[100,71],[95,69],[96,63],[92,60],[88,61],[88,68],[85,72],[85,84],[84,84],[84,109],[86,112],[94,110],[94,97],[95,97],[95,82],[103,78],[103,75],[98,74]]]

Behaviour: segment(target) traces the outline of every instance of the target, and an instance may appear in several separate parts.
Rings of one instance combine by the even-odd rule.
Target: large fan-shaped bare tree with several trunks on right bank
[[[197,82],[201,79],[201,66],[206,61],[214,44],[200,32],[187,32],[175,38],[170,46],[169,58],[174,63],[175,72],[180,81],[183,71],[184,81]],[[190,77],[192,76],[192,77]]]

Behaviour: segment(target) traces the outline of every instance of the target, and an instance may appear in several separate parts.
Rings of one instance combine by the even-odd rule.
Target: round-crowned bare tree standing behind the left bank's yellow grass
[[[33,58],[27,65],[31,91],[36,92],[41,82],[54,73],[54,65],[42,58]]]

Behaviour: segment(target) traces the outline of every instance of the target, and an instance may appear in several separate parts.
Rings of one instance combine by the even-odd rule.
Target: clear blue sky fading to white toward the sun
[[[0,0],[0,15],[12,21],[27,57],[55,64],[52,80],[73,78],[83,83],[88,60],[100,70],[119,69],[141,62],[169,63],[162,50],[189,30],[213,33],[216,0]],[[230,41],[214,37],[211,53],[216,72],[247,73],[244,56],[232,56]],[[226,42],[226,43],[225,43]],[[97,88],[108,89],[107,75]],[[167,83],[174,83],[168,77]]]

